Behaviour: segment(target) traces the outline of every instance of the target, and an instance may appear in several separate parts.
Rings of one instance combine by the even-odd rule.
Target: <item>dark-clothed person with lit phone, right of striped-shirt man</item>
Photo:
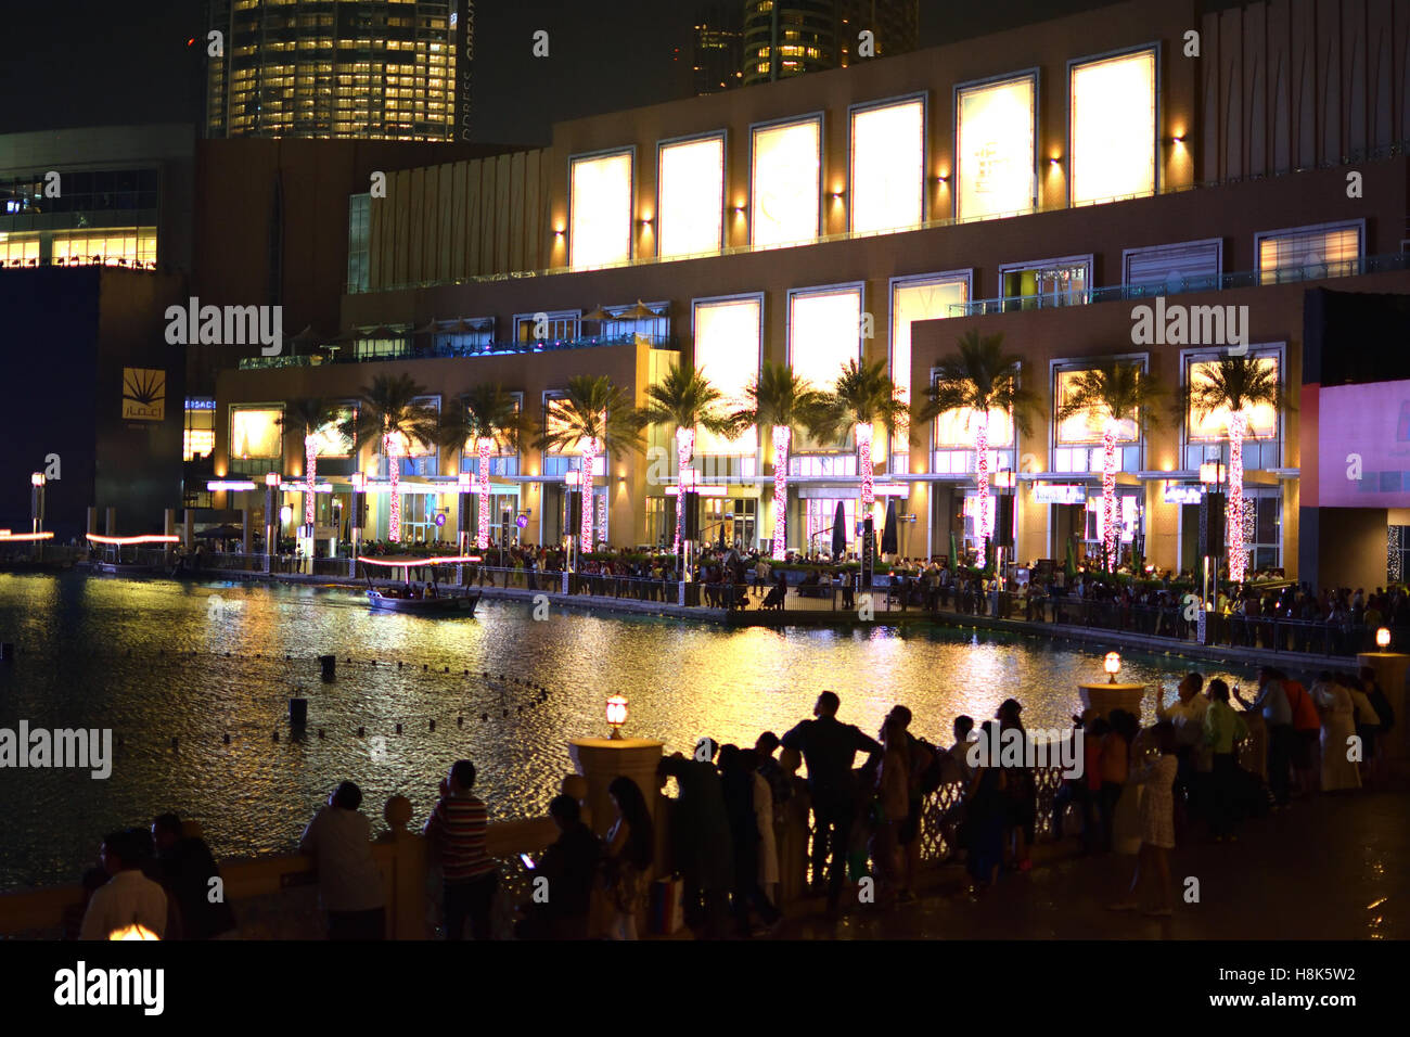
[[[571,796],[556,796],[548,804],[548,815],[558,825],[558,841],[544,851],[529,875],[534,896],[523,904],[525,917],[516,935],[520,940],[585,940],[602,842],[582,824],[582,810]],[[541,897],[540,878],[548,880]]]

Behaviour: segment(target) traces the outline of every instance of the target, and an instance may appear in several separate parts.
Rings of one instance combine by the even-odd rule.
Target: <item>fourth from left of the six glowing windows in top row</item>
[[[925,102],[852,113],[852,230],[914,227],[925,209]]]

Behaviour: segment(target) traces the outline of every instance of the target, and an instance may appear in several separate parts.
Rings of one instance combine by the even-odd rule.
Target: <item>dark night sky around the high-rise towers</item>
[[[1217,0],[1211,7],[1237,0]],[[689,93],[692,0],[477,0],[477,140],[548,142],[558,119]],[[1103,0],[921,0],[921,42],[1101,7]],[[0,133],[197,121],[203,0],[6,3]],[[536,30],[550,56],[530,55]],[[677,52],[675,48],[680,48]]]

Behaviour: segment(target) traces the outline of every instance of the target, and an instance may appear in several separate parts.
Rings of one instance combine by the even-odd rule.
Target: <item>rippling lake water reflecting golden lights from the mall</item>
[[[627,735],[688,752],[702,735],[783,734],[823,689],[869,734],[900,701],[912,732],[949,744],[957,714],[993,717],[1010,696],[1028,727],[1066,727],[1077,684],[1103,679],[1097,650],[986,632],[725,629],[565,610],[534,621],[527,602],[489,600],[471,619],[424,619],[372,614],[350,588],[83,574],[0,576],[0,641],[17,646],[0,665],[0,728],[121,739],[106,780],[0,769],[0,890],[76,880],[104,832],[166,810],[197,818],[217,856],[288,852],[343,779],[362,787],[375,828],[395,793],[420,821],[461,756],[492,817],[541,814],[572,769],[567,739],[605,735],[613,693],[630,700]],[[331,684],[319,679],[324,653],[338,657]],[[1121,676],[1170,697],[1190,665],[1129,653]],[[293,694],[309,698],[303,739],[288,724]],[[1148,721],[1152,708],[1148,696]]]

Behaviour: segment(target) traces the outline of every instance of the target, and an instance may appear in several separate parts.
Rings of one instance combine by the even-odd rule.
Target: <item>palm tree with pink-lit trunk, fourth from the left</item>
[[[547,432],[536,446],[540,450],[561,451],[577,447],[582,453],[582,552],[591,552],[592,540],[592,466],[598,454],[606,451],[618,457],[623,447],[643,447],[642,429],[646,420],[632,405],[626,389],[612,384],[605,374],[580,374],[568,378],[567,392],[548,401]]]

